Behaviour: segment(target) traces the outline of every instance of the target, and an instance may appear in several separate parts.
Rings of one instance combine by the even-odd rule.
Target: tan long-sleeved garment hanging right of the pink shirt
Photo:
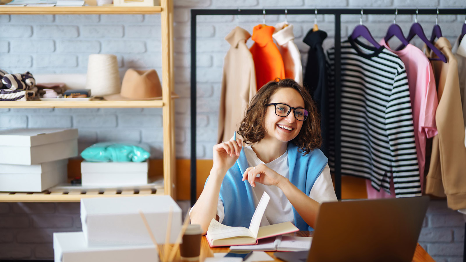
[[[466,148],[463,110],[459,94],[458,63],[452,45],[440,37],[435,46],[447,62],[432,60],[439,106],[435,114],[439,134],[432,141],[432,156],[425,193],[447,197],[448,207],[466,208]],[[427,51],[430,58],[434,54]]]

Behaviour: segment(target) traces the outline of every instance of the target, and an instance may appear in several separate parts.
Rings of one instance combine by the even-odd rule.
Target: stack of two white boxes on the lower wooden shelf
[[[41,192],[66,182],[78,155],[77,129],[0,131],[0,191]]]

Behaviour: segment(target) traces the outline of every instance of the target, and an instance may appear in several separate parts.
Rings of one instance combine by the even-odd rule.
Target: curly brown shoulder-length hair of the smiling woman
[[[304,152],[303,155],[306,155],[322,145],[320,117],[309,92],[293,79],[275,78],[274,81],[263,85],[251,99],[238,132],[246,144],[259,142],[265,137],[266,104],[270,103],[270,97],[280,88],[297,90],[304,100],[304,108],[309,111],[308,118],[302,123],[301,131],[290,141],[299,147],[299,152]]]

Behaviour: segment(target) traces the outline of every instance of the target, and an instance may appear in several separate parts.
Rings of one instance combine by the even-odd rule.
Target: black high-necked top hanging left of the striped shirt
[[[309,45],[308,64],[304,74],[304,87],[314,99],[317,110],[321,115],[321,150],[326,157],[329,157],[329,90],[328,90],[328,63],[322,48],[322,42],[327,37],[327,33],[322,30],[309,30],[302,40]]]

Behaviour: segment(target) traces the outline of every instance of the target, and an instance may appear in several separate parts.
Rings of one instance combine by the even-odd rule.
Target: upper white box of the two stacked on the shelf
[[[0,131],[0,164],[36,165],[77,155],[77,129]]]

